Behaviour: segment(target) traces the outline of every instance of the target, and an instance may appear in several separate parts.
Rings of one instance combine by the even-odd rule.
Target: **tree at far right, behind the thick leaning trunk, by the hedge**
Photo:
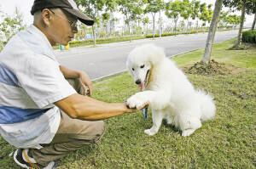
[[[256,0],[224,0],[224,6],[229,8],[235,8],[235,10],[241,10],[241,22],[238,32],[238,40],[235,46],[241,45],[241,31],[243,28],[245,14],[252,14],[255,11]]]

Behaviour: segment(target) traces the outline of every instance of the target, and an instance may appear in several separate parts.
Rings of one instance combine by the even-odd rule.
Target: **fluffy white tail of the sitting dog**
[[[197,93],[201,101],[201,121],[211,120],[216,112],[212,95],[201,90],[197,91]]]

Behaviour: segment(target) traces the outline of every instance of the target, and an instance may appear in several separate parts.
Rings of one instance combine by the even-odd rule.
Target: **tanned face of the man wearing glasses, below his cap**
[[[76,27],[77,19],[66,12],[64,14],[61,8],[45,8],[44,10],[48,10],[50,18],[49,25],[46,28],[49,42],[51,45],[55,45],[55,43],[67,45],[74,37],[74,34],[78,32]]]

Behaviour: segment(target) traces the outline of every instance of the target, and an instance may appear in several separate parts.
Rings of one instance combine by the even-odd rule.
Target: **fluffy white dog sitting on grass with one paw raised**
[[[152,108],[153,127],[144,132],[154,135],[166,119],[189,136],[201,127],[201,121],[212,119],[215,104],[210,94],[195,90],[188,78],[162,48],[146,44],[131,51],[126,62],[135,83],[143,91],[127,99],[131,108],[149,103]]]

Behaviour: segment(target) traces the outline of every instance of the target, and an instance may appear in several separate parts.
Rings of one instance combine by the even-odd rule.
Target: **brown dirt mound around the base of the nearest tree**
[[[185,73],[203,76],[226,76],[238,74],[245,71],[245,69],[236,67],[234,65],[225,65],[223,63],[218,63],[213,59],[209,64],[204,64],[203,62],[196,62],[195,65],[185,65],[182,69]]]

